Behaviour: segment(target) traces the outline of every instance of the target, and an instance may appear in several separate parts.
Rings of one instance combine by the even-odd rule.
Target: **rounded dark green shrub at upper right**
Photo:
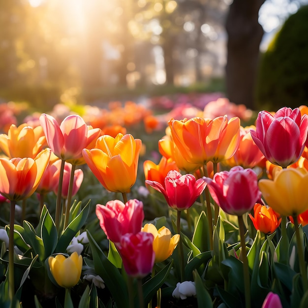
[[[285,21],[261,56],[256,88],[259,109],[308,105],[308,5]]]

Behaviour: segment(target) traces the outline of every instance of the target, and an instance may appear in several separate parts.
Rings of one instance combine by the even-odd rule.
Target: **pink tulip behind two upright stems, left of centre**
[[[54,192],[55,194],[58,193],[58,186],[59,186],[59,177],[60,177],[60,168],[61,168],[61,159],[57,160],[54,165],[57,168],[57,171],[54,173],[53,176],[53,187],[54,187]],[[72,170],[72,165],[68,162],[64,163],[64,170],[63,170],[63,183],[62,183],[62,198],[67,198],[68,194],[68,185],[69,185],[69,179],[70,179],[70,174]],[[76,169],[74,171],[74,180],[73,180],[73,189],[72,189],[72,196],[74,196],[84,179],[84,173],[81,169]]]

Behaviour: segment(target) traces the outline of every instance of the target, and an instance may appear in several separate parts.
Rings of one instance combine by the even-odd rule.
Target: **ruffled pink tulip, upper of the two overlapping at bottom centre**
[[[137,199],[128,200],[126,204],[120,200],[108,201],[105,206],[97,204],[95,213],[100,227],[114,243],[120,243],[125,233],[136,234],[141,231],[143,203]]]

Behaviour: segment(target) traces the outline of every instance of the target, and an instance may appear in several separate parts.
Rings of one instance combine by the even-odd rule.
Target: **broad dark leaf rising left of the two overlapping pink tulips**
[[[117,306],[121,308],[128,307],[127,287],[119,269],[107,259],[94,241],[91,233],[87,231],[87,234],[92,251],[95,272],[104,280]],[[121,296],[119,296],[119,294],[121,294]]]

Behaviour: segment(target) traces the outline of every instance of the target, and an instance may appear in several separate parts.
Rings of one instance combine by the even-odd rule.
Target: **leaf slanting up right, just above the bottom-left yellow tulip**
[[[66,251],[67,246],[76,235],[76,233],[82,228],[85,224],[87,217],[90,211],[90,200],[87,205],[82,209],[80,214],[69,223],[67,228],[63,231],[62,235],[59,238],[58,244],[55,248],[56,252]]]

